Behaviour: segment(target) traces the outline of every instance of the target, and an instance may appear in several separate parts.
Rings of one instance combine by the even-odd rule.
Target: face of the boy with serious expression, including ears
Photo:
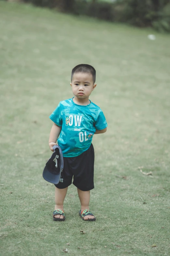
[[[70,83],[73,94],[79,99],[89,98],[90,94],[96,87],[93,83],[92,74],[74,73],[72,82]]]

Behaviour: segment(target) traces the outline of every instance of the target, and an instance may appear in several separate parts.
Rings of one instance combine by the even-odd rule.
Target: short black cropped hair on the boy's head
[[[72,72],[71,72],[71,81],[72,81],[72,78],[73,78],[74,73],[78,73],[78,72],[92,74],[93,83],[95,83],[95,80],[96,80],[96,71],[95,71],[95,69],[94,69],[91,65],[88,65],[88,64],[79,64],[79,65],[77,65],[76,67],[74,67],[74,68],[72,69]]]

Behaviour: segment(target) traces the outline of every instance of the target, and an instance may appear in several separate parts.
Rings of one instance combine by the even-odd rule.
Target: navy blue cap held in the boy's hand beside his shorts
[[[43,178],[50,183],[58,184],[64,167],[63,153],[59,145],[54,145],[52,148],[54,152],[44,167]]]

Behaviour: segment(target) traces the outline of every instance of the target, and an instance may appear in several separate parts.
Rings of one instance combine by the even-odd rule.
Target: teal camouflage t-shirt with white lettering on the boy
[[[90,103],[82,106],[74,103],[73,98],[63,100],[50,115],[50,119],[62,126],[58,145],[64,157],[75,157],[89,149],[96,129],[107,127],[102,110]]]

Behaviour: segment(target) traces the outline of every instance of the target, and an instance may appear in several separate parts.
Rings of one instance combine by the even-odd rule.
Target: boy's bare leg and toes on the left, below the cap
[[[54,210],[57,210],[57,209],[64,210],[63,203],[64,203],[64,198],[67,194],[67,189],[68,189],[68,187],[62,188],[62,189],[55,187],[55,208],[54,208]],[[64,217],[63,217],[63,215],[55,214],[54,218],[63,219]]]

